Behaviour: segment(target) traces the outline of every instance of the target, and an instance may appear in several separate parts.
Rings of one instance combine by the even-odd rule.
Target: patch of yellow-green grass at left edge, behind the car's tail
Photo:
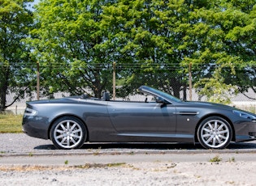
[[[22,115],[0,114],[0,133],[22,133]]]

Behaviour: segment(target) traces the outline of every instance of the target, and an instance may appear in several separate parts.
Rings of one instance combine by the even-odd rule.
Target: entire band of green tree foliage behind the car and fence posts
[[[193,84],[211,101],[256,92],[254,0],[42,0],[30,36],[24,3],[0,2],[1,38],[13,42],[1,40],[1,87],[9,88],[1,100],[11,87],[35,85],[33,61],[40,63],[44,95],[90,88],[87,93],[101,97],[112,88],[113,62],[119,95],[147,84],[186,99],[190,63]]]

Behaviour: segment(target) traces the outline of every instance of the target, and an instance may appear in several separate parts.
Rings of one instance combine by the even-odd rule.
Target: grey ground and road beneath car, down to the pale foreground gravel
[[[184,143],[85,143],[78,150],[56,150],[50,140],[24,133],[0,133],[0,137],[0,164],[209,162],[215,156],[223,161],[256,161],[256,141],[232,143],[225,150],[205,150],[199,144]]]

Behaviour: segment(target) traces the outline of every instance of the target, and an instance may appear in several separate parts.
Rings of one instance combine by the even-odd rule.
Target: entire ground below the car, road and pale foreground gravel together
[[[50,140],[1,134],[1,185],[254,185],[256,142],[225,150],[198,144],[85,143],[56,150]]]

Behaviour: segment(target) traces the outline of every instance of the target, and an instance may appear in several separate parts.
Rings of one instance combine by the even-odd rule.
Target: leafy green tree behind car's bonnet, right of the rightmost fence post
[[[195,18],[201,20],[193,27],[201,25],[205,28],[200,31],[204,31],[203,34],[199,30],[197,32],[202,38],[201,49],[186,59],[193,61],[194,82],[211,78],[220,66],[232,64],[235,73],[230,67],[221,71],[223,89],[232,84],[241,92],[249,88],[255,91],[255,1],[212,2],[209,9],[202,7],[193,13]],[[195,36],[197,40],[198,37]]]

